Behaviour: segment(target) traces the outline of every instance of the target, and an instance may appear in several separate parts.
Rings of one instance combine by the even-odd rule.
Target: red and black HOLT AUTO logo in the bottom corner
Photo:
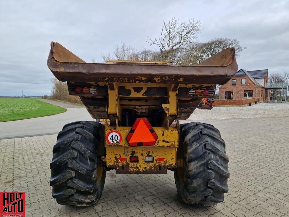
[[[25,217],[25,192],[0,192],[0,217]]]

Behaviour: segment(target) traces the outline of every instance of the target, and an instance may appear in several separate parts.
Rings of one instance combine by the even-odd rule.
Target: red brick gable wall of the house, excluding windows
[[[236,79],[236,85],[232,85],[232,79]],[[259,101],[270,100],[270,94],[268,94],[268,97],[265,99],[265,91],[269,91],[270,93],[270,90],[256,85],[248,76],[238,76],[232,79],[219,88],[221,100],[225,100],[225,91],[233,91],[233,100],[246,99],[247,97],[244,97],[245,90],[252,90],[253,98],[259,98]],[[242,79],[246,79],[246,84],[242,84]],[[261,90],[263,90],[262,97]]]

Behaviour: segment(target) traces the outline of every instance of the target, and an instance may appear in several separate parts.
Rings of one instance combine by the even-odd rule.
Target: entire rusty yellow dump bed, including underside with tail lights
[[[152,126],[187,119],[202,98],[214,97],[216,84],[237,72],[235,49],[227,48],[197,66],[171,62],[108,61],[86,63],[58,43],[51,42],[47,65],[70,95],[79,96],[93,118],[111,125],[131,126],[146,117]]]

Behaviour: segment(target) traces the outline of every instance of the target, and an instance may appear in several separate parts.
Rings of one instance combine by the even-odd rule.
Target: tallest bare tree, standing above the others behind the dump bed
[[[174,61],[176,53],[197,42],[201,30],[200,20],[190,19],[185,23],[172,18],[169,22],[163,21],[160,37],[154,39],[148,37],[147,42],[158,46],[163,61]]]

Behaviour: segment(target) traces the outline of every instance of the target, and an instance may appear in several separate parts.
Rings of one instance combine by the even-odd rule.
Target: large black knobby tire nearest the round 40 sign
[[[104,127],[94,121],[66,124],[57,136],[50,163],[52,197],[58,204],[91,206],[103,191],[106,170]]]

